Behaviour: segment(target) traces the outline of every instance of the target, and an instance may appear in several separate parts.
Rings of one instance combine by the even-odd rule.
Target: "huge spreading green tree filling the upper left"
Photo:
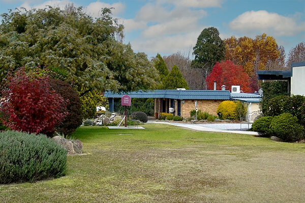
[[[84,95],[90,91],[153,88],[158,72],[144,53],[122,44],[123,25],[102,9],[93,19],[82,8],[47,8],[2,14],[0,86],[24,66],[59,75]],[[36,69],[39,67],[39,70]]]

